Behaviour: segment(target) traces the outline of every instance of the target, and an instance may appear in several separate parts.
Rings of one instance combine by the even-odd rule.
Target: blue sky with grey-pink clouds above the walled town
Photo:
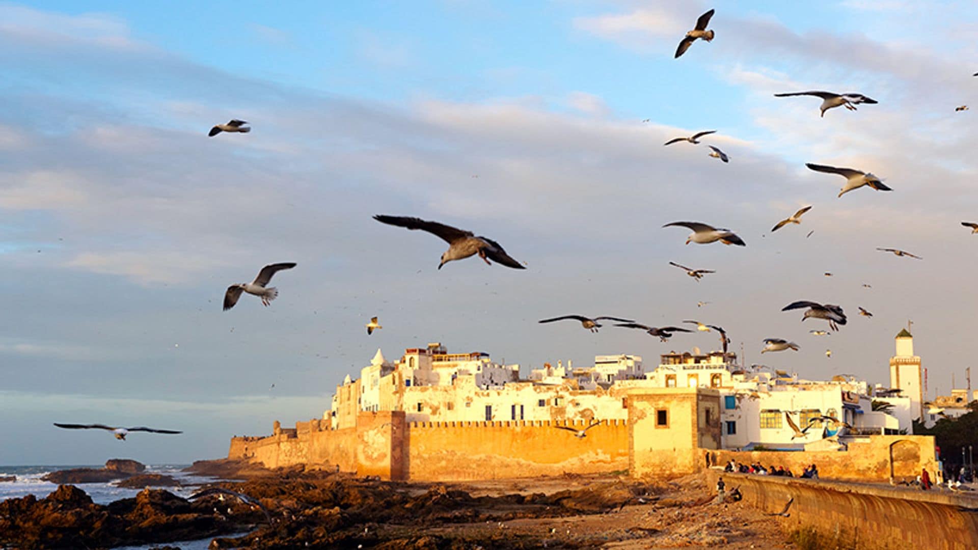
[[[674,60],[710,7],[716,39]],[[978,107],[976,38],[963,2],[2,3],[0,419],[29,443],[0,464],[220,456],[230,435],[322,414],[378,346],[440,341],[525,374],[715,344],[535,322],[566,313],[699,318],[748,362],[787,338],[801,351],[764,361],[884,384],[911,318],[947,392],[975,306],[959,226],[978,217],[975,112],[954,108]],[[803,89],[880,103],[821,118],[817,99],[772,96]],[[206,138],[231,117],[254,130]],[[701,129],[730,164],[661,145]],[[841,178],[806,161],[895,191],[836,199]],[[375,213],[471,229],[529,268],[438,271],[440,241]],[[661,229],[679,219],[748,247],[685,247]],[[271,307],[220,310],[229,284],[289,260]],[[670,260],[718,273],[697,284]],[[875,316],[820,340],[779,311],[795,299]],[[186,434],[123,447],[51,422]]]

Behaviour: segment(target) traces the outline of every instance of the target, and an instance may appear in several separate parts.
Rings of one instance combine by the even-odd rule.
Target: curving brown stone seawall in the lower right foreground
[[[723,476],[739,486],[744,502],[780,512],[794,498],[785,531],[815,527],[838,533],[846,548],[966,550],[978,548],[978,499],[941,491],[823,480],[799,480],[709,471],[710,485]]]

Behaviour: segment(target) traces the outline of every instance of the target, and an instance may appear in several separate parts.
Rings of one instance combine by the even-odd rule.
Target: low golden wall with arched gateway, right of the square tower
[[[784,466],[800,476],[806,466],[819,467],[819,476],[840,481],[912,480],[926,468],[931,480],[937,473],[932,435],[873,435],[866,442],[854,441],[847,451],[710,451],[717,466],[731,459],[763,466]],[[891,470],[892,464],[892,470]]]

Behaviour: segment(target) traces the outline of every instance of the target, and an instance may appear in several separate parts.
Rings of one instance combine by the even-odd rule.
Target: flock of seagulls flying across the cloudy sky
[[[706,27],[709,25],[711,18],[714,15],[714,10],[710,10],[699,17],[696,20],[696,24],[692,30],[686,33],[686,36],[682,39],[679,47],[676,50],[676,58],[683,56],[689,47],[697,39],[702,39],[706,42],[711,42],[715,37],[715,32]],[[974,74],[978,76],[978,73]],[[788,92],[775,94],[776,97],[795,97],[795,96],[813,96],[820,98],[822,104],[820,105],[821,116],[825,115],[825,112],[837,107],[845,107],[849,111],[857,111],[857,105],[872,105],[876,104],[875,100],[867,97],[860,93],[835,93],[826,91],[804,91],[804,92]],[[956,109],[956,111],[966,110],[967,106],[961,106]],[[648,121],[645,119],[644,121]],[[208,132],[209,137],[215,137],[221,133],[248,133],[251,131],[251,127],[247,125],[248,122],[245,120],[233,118],[226,123],[214,125]],[[676,143],[686,142],[690,145],[698,145],[700,139],[715,134],[716,130],[705,130],[692,134],[688,137],[676,137],[665,142],[665,146],[673,145]],[[730,158],[726,153],[721,151],[719,148],[708,145],[710,148],[709,156],[715,159],[722,160],[724,162],[729,162]],[[862,187],[869,187],[876,191],[892,191],[892,189],[883,184],[882,180],[873,175],[870,172],[865,172],[855,168],[848,167],[837,167],[829,166],[824,164],[816,164],[812,162],[806,163],[808,168],[830,174],[841,175],[846,179],[842,188],[838,193],[838,198],[841,198],[846,193],[854,191]],[[475,177],[475,176],[473,176]],[[791,214],[785,219],[778,221],[778,223],[771,230],[772,232],[778,231],[786,225],[800,225],[802,223],[802,215],[807,213],[812,209],[812,206],[804,206],[798,209],[796,212]],[[477,255],[486,264],[491,265],[492,263],[498,263],[512,269],[525,269],[525,264],[514,259],[498,242],[484,236],[476,236],[471,231],[466,229],[460,229],[444,223],[437,221],[423,220],[418,217],[411,216],[397,216],[397,215],[386,215],[378,214],[374,216],[374,219],[380,223],[386,225],[392,225],[395,227],[402,227],[409,230],[422,230],[426,233],[430,233],[448,244],[448,250],[441,254],[441,260],[438,263],[438,269],[441,269],[446,263],[450,261],[465,259],[473,255]],[[971,229],[972,234],[978,234],[978,223],[962,221],[961,225]],[[695,243],[698,245],[708,245],[711,243],[720,242],[725,245],[734,245],[738,247],[746,247],[746,243],[737,236],[730,229],[714,227],[707,223],[702,223],[698,221],[674,221],[666,223],[662,227],[685,227],[691,231],[686,239],[686,244]],[[809,232],[807,237],[811,237],[813,232]],[[910,257],[915,259],[922,259],[920,256],[912,254],[911,252],[906,252],[900,249],[892,248],[877,248],[879,252],[890,252],[900,257]],[[685,265],[670,261],[670,265],[678,267],[686,271],[689,277],[692,277],[695,281],[699,282],[703,276],[708,274],[716,273],[712,269],[699,269],[690,268]],[[224,310],[229,310],[238,303],[242,294],[249,294],[261,299],[263,305],[268,306],[271,301],[279,296],[279,291],[275,287],[269,287],[268,284],[271,282],[272,277],[279,271],[292,269],[296,266],[295,262],[280,262],[272,263],[261,268],[258,275],[250,283],[238,283],[228,287],[224,295]],[[831,276],[831,273],[826,272],[825,276]],[[869,285],[863,285],[869,288]],[[697,302],[697,307],[702,307],[709,302],[700,301]],[[802,321],[808,318],[822,319],[827,322],[830,331],[838,331],[839,326],[843,326],[847,323],[846,314],[842,307],[837,304],[831,303],[819,303],[810,300],[798,300],[791,302],[781,308],[782,311],[789,311],[794,309],[804,309],[804,314],[802,315]],[[860,314],[866,317],[871,317],[872,313],[868,312],[863,307],[859,307]],[[657,337],[661,342],[667,342],[675,333],[692,333],[692,329],[680,327],[680,326],[662,326],[655,327],[643,323],[636,322],[634,319],[626,319],[624,317],[611,317],[611,316],[598,316],[598,317],[586,317],[583,315],[562,315],[559,317],[553,317],[549,319],[540,320],[540,323],[553,323],[556,321],[563,320],[574,320],[581,323],[582,327],[591,332],[597,333],[601,327],[599,321],[614,321],[615,327],[628,328],[628,329],[639,329],[645,331],[648,335]],[[695,320],[686,320],[684,323],[695,324],[696,331],[699,332],[711,332],[716,331],[720,335],[720,340],[723,345],[724,353],[727,352],[728,344],[731,340],[727,336],[727,332],[717,325],[704,324]],[[371,321],[367,323],[367,334],[371,335],[375,330],[382,328],[378,323],[378,317],[372,317]],[[814,336],[828,336],[831,334],[827,331],[822,330],[812,330],[810,333]],[[798,350],[799,345],[793,342],[788,342],[779,338],[769,338],[764,340],[764,348],[761,350],[762,353],[768,351],[783,351],[786,349]],[[831,351],[825,351],[826,356],[831,356]],[[274,386],[274,385],[273,385]],[[114,428],[111,426],[106,426],[102,424],[60,424],[56,423],[55,426],[65,429],[100,429],[111,431],[116,438],[120,440],[125,439],[125,435],[129,432],[150,432],[156,434],[180,434],[180,432],[172,430],[156,430],[146,427],[137,428]],[[588,427],[590,428],[590,426]],[[587,429],[581,431],[578,436],[584,436],[584,432]],[[575,431],[576,432],[576,431]]]

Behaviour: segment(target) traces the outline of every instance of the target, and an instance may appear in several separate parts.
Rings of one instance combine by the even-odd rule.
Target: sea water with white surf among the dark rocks
[[[181,483],[193,483],[198,485],[200,483],[207,483],[210,481],[218,481],[216,478],[209,478],[206,476],[191,476],[181,472],[184,468],[189,466],[188,464],[159,464],[150,466],[147,465],[146,472],[144,474],[165,474],[167,476],[172,476],[177,481]],[[68,470],[71,468],[103,468],[103,464],[88,465],[88,464],[78,464],[69,466],[0,466],[0,477],[6,476],[17,476],[17,481],[5,481],[0,482],[0,501],[7,500],[8,498],[20,498],[32,494],[37,498],[44,498],[55,489],[58,488],[57,483],[51,483],[48,481],[41,481],[46,474],[50,472],[55,472],[58,470]],[[92,497],[92,501],[96,504],[109,504],[114,500],[120,498],[131,498],[136,496],[142,489],[126,489],[121,487],[116,487],[112,482],[109,483],[78,483],[75,486],[81,490],[88,493],[88,496]],[[184,486],[184,487],[159,487],[166,489],[173,494],[178,496],[183,496],[186,498],[191,495],[196,489],[196,486]],[[228,534],[224,536],[242,536],[244,532],[236,534]],[[146,550],[152,548],[153,546],[178,546],[182,550],[206,550],[207,544],[210,543],[210,538],[200,539],[200,540],[184,540],[178,542],[166,542],[149,544],[144,546],[119,546],[116,550]]]

